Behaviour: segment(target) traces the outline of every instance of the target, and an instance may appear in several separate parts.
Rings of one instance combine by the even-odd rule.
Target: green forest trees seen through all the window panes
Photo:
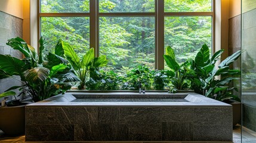
[[[88,13],[89,0],[41,0],[42,13]],[[165,0],[165,12],[211,11],[211,0]],[[155,12],[155,0],[99,0],[100,13]],[[126,73],[137,66],[155,67],[155,17],[100,17],[100,55],[104,70]],[[58,39],[70,43],[79,57],[90,47],[89,17],[42,17],[41,33],[53,51]],[[177,53],[177,62],[195,58],[201,45],[211,45],[211,17],[165,17],[165,45]],[[211,49],[211,47],[209,47]]]

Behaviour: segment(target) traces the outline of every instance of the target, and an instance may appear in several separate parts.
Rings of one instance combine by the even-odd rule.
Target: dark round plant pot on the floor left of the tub
[[[25,105],[0,107],[0,129],[7,135],[25,132]]]

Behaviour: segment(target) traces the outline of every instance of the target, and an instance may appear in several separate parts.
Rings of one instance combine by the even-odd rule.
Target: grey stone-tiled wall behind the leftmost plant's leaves
[[[1,3],[1,2],[0,2]],[[7,46],[8,39],[23,35],[23,20],[13,15],[0,11],[0,53],[10,54],[17,58],[22,58],[20,52],[14,51]],[[20,85],[21,83],[14,79],[1,79],[0,80],[0,93],[4,92],[8,88],[14,85]]]

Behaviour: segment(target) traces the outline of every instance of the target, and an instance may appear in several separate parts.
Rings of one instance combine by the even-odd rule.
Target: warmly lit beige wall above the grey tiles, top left
[[[23,18],[23,0],[1,0],[0,11]]]

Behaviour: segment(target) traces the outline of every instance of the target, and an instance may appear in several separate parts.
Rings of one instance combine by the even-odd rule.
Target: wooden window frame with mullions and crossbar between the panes
[[[99,13],[98,1],[90,0],[89,13],[41,13],[41,2],[38,0],[38,38],[41,36],[41,17],[90,17],[90,47],[99,51],[99,17],[155,17],[155,69],[164,69],[164,18],[184,16],[211,16],[212,17],[212,53],[215,52],[215,0],[212,0],[211,12],[165,12],[164,0],[155,0],[155,12],[152,13]]]

